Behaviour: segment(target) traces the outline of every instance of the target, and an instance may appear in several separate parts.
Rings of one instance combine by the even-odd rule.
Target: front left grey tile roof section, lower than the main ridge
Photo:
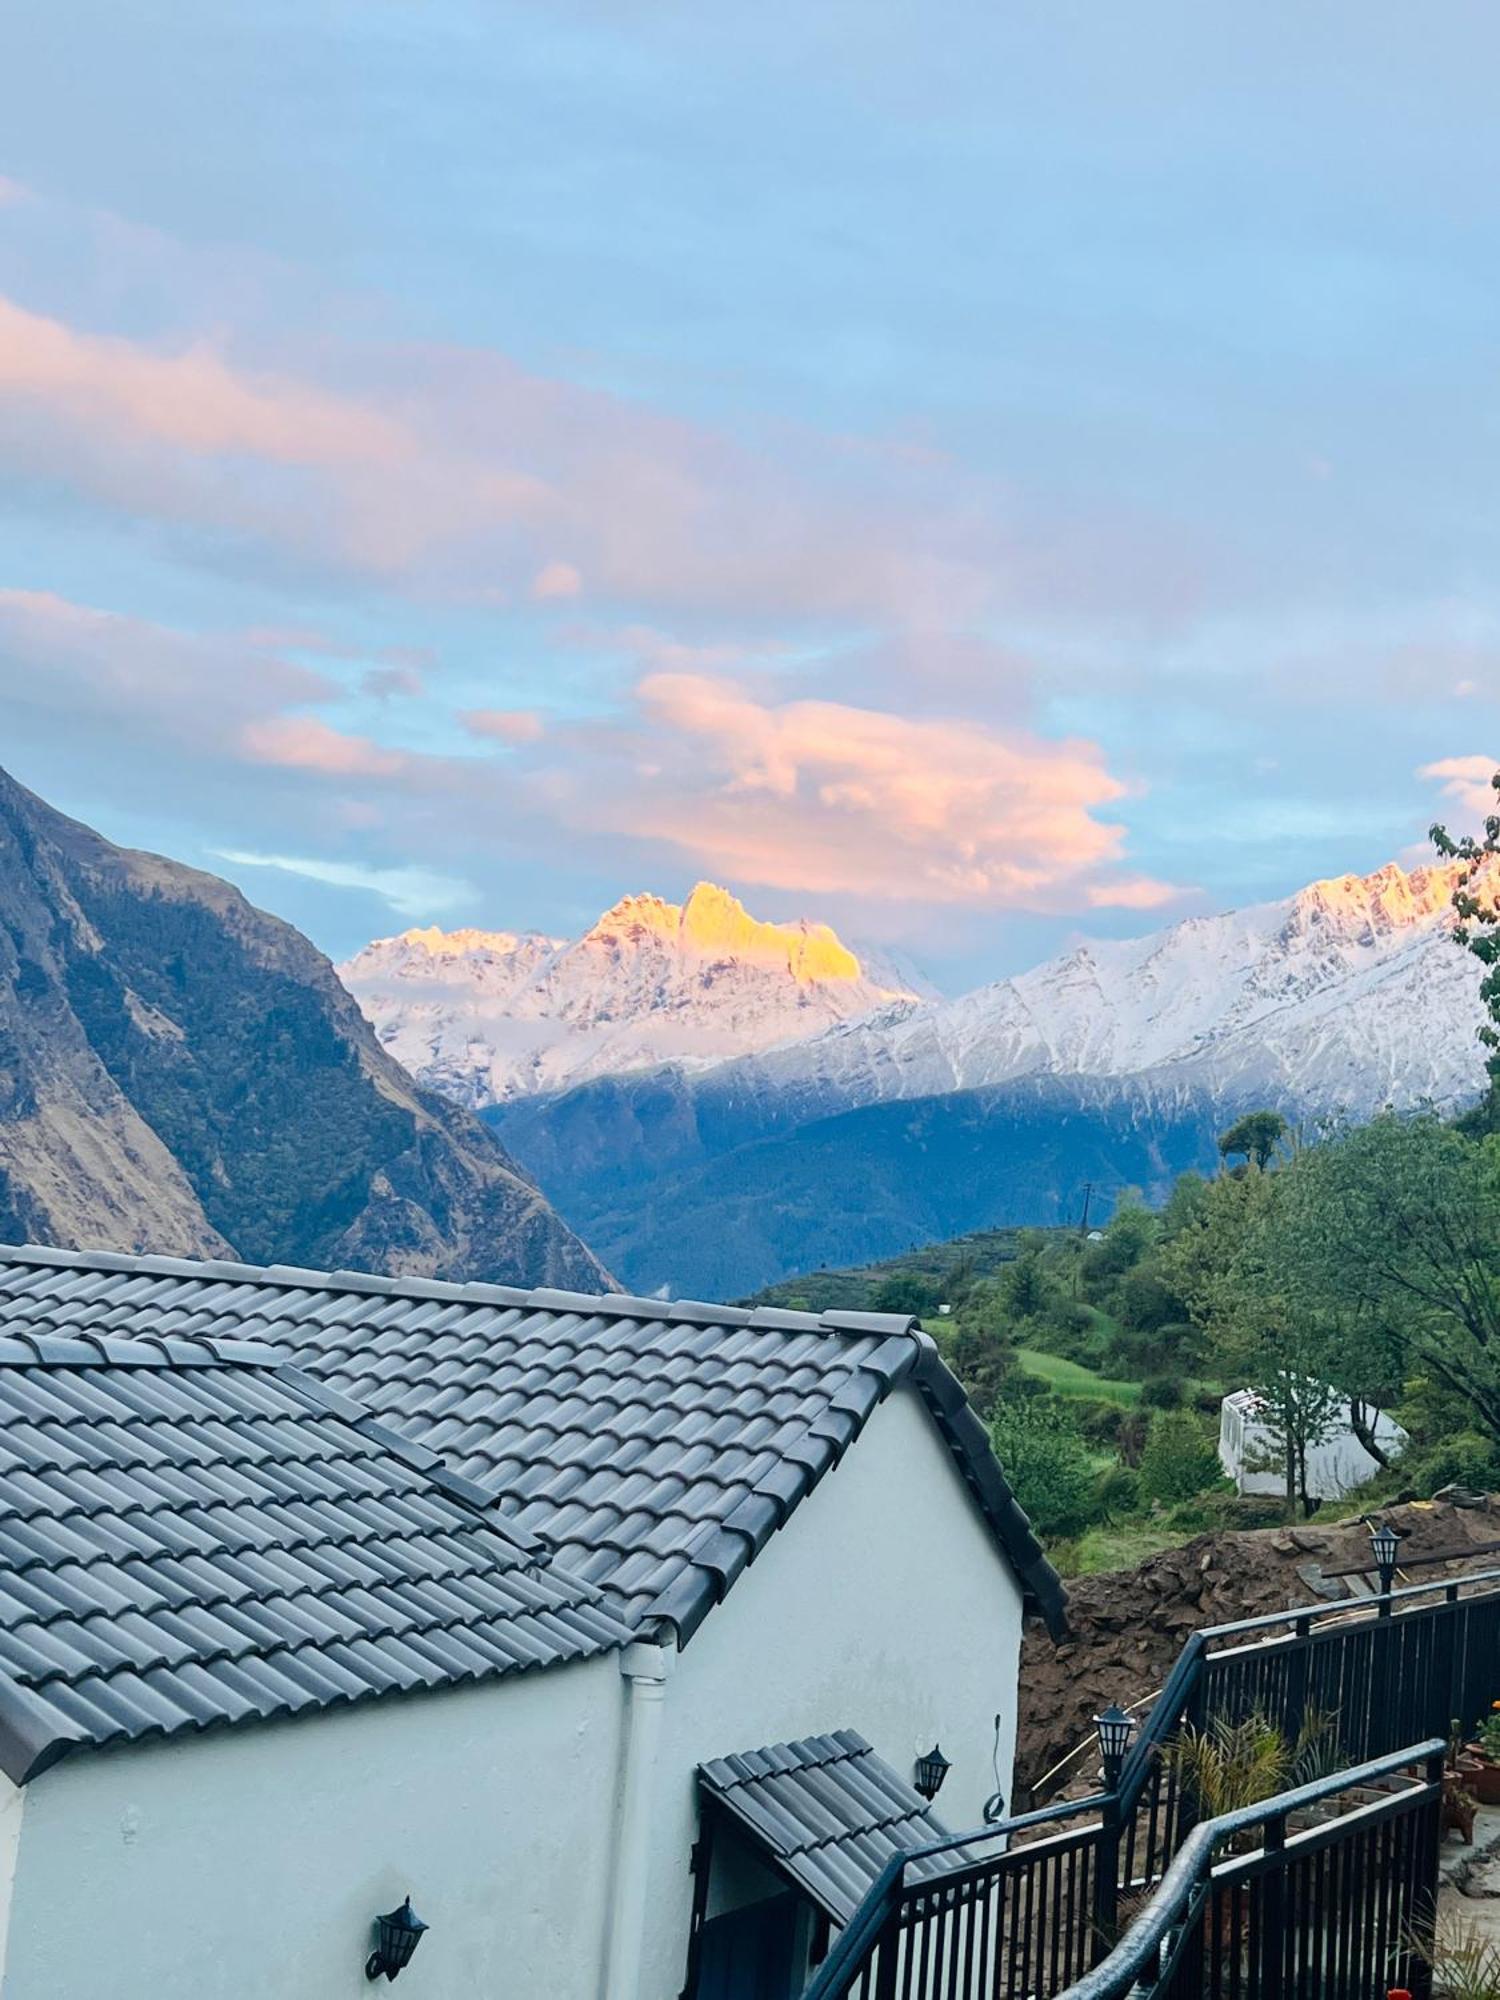
[[[18,1784],[76,1744],[456,1686],[630,1638],[488,1494],[262,1342],[10,1326],[0,1768]]]

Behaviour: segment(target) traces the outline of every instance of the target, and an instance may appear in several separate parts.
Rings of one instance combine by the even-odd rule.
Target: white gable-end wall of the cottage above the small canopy
[[[916,1392],[896,1390],[668,1682],[642,2000],[682,1990],[698,1764],[850,1728],[910,1778],[940,1740],[954,1768],[936,1812],[978,1826],[996,1712],[1010,1790],[1020,1628],[1020,1588],[948,1448]]]

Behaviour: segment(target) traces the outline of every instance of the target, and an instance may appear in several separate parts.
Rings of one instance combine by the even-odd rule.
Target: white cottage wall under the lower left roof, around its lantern
[[[28,1786],[0,1994],[356,2000],[410,1890],[408,2000],[592,2000],[618,1718],[606,1656],[76,1752]]]

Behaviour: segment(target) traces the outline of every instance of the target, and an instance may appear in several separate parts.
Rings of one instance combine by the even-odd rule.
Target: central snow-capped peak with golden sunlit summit
[[[684,904],[626,896],[582,938],[408,930],[340,968],[380,1042],[464,1104],[592,1076],[724,1062],[930,988],[826,924],[768,924],[712,882]]]

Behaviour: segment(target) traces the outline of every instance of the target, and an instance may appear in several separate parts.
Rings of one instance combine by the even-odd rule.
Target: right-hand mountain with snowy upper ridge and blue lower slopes
[[[1160,1196],[1272,1104],[1302,1124],[1456,1108],[1484,1084],[1446,870],[1084,944],[706,1070],[486,1112],[628,1284],[750,1292],[980,1226],[1062,1222],[1088,1182]]]

